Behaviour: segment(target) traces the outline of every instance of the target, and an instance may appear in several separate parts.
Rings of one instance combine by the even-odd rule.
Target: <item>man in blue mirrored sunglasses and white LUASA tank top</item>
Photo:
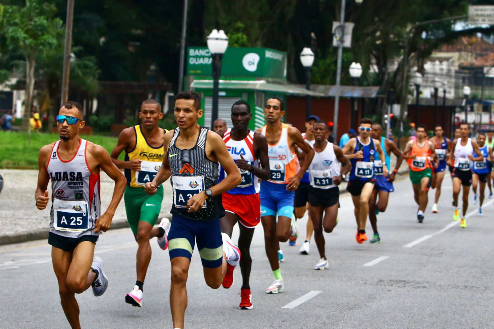
[[[125,189],[125,177],[106,150],[79,137],[84,126],[82,115],[82,106],[77,102],[65,102],[60,108],[56,118],[60,140],[40,150],[35,192],[38,209],[46,208],[51,179],[53,205],[48,244],[60,303],[72,328],[81,328],[75,293],[91,286],[93,294],[101,296],[108,287],[103,261],[94,256],[94,246],[101,231],[110,228]],[[112,201],[101,216],[100,170],[115,181]]]

